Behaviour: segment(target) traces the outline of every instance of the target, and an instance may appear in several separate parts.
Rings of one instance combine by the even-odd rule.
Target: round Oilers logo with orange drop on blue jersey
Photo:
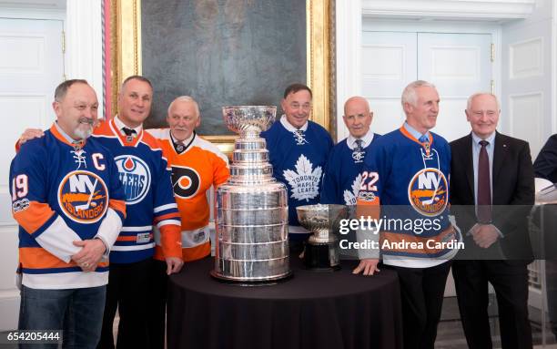
[[[151,185],[151,172],[145,161],[133,155],[120,155],[115,161],[120,181],[126,191],[127,205],[143,200]]]

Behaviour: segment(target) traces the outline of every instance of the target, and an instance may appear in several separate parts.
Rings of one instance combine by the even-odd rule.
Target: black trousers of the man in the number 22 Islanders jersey
[[[384,265],[399,274],[405,349],[433,349],[451,262],[430,268]]]

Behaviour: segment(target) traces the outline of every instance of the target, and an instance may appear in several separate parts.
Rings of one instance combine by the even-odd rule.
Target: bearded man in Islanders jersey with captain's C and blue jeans
[[[10,167],[23,284],[19,329],[64,329],[65,346],[95,348],[125,194],[112,154],[89,139],[98,108],[93,88],[67,80],[56,87],[53,108],[54,125]]]

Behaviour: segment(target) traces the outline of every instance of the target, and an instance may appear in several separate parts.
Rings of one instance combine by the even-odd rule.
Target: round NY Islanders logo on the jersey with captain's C
[[[95,223],[108,210],[105,181],[86,170],[69,172],[58,187],[58,204],[70,220]]]

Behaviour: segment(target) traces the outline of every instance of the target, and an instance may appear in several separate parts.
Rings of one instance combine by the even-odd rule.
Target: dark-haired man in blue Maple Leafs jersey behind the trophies
[[[284,115],[261,132],[267,141],[273,175],[289,191],[290,241],[303,241],[309,236],[309,231],[299,225],[296,208],[319,203],[322,174],[333,146],[329,132],[309,121],[311,98],[311,90],[303,84],[287,87],[280,102]]]

